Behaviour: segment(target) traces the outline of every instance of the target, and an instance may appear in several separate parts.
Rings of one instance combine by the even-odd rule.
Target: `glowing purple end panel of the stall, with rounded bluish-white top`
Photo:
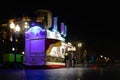
[[[31,27],[25,33],[25,65],[46,64],[45,36],[46,31],[39,26]]]

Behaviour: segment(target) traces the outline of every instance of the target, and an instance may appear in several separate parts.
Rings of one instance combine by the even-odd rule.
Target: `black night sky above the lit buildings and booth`
[[[17,0],[0,3],[0,23],[14,16],[35,16],[48,9],[67,25],[67,40],[81,41],[99,54],[120,57],[118,2],[91,0]],[[7,5],[3,5],[7,4]]]

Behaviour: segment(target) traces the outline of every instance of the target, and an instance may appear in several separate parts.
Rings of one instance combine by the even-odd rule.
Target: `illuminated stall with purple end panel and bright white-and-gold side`
[[[67,44],[58,31],[31,27],[25,33],[25,57],[27,66],[40,66],[59,63],[64,64]]]

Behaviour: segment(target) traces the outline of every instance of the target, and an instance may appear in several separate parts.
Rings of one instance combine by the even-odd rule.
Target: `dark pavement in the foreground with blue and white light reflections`
[[[105,68],[0,69],[0,80],[118,80],[120,65]]]

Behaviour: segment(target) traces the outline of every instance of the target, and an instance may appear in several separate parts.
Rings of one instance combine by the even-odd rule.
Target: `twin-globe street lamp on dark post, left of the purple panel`
[[[10,29],[13,32],[13,42],[14,42],[14,62],[16,63],[16,32],[20,31],[19,25],[15,25],[13,22],[10,23]]]

